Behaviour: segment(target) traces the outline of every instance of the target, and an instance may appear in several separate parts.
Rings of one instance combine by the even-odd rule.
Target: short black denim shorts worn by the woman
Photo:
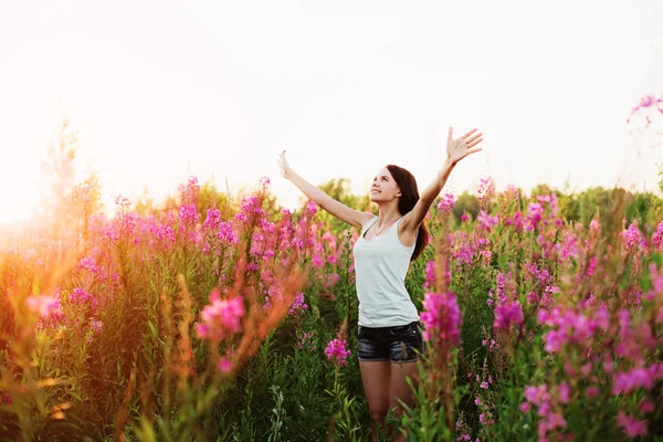
[[[357,341],[359,360],[365,362],[413,362],[423,352],[420,322],[396,327],[359,326]]]

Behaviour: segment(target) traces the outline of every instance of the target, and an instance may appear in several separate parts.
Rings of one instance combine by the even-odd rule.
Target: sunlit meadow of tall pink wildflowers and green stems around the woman
[[[358,232],[269,179],[164,203],[54,187],[3,233],[0,439],[370,440]],[[325,188],[370,210],[368,200]],[[443,194],[409,272],[425,351],[411,441],[663,440],[663,201],[540,186]],[[383,440],[388,436],[383,435]]]

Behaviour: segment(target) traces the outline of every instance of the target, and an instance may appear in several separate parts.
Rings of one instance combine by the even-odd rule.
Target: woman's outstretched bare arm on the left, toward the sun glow
[[[285,159],[285,150],[278,156],[278,167],[281,168],[281,175],[285,179],[292,181],[292,183],[295,185],[306,197],[315,201],[319,207],[339,220],[361,229],[361,227],[372,218],[372,214],[370,213],[360,212],[359,210],[347,207],[340,201],[336,201],[322,189],[313,186],[311,182],[298,176],[287,164],[287,160]]]

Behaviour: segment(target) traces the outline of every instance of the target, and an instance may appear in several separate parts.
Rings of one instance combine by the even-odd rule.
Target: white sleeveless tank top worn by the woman
[[[373,217],[362,225],[355,243],[359,325],[362,327],[394,327],[419,320],[404,284],[414,244],[408,248],[398,239],[401,220],[402,217],[379,236],[367,240],[364,235],[378,221],[378,217]]]

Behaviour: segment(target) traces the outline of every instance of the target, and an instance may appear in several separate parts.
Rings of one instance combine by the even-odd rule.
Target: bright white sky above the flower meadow
[[[661,23],[660,0],[2,1],[0,220],[34,201],[64,115],[106,201],[189,171],[232,191],[266,175],[292,206],[282,149],[316,185],[367,191],[394,162],[422,188],[449,125],[485,134],[456,193],[486,175],[653,190],[661,152],[625,119],[663,93]]]

